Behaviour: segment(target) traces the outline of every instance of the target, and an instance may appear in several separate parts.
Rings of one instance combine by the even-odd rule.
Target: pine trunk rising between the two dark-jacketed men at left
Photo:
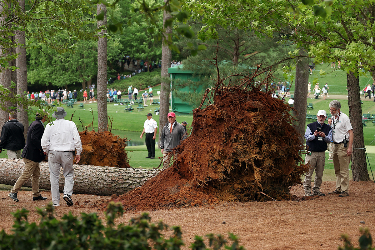
[[[25,0],[18,1],[20,7],[25,10]],[[27,65],[26,65],[26,48],[24,44],[26,43],[25,31],[16,31],[15,40],[21,46],[16,47],[16,54],[19,54],[16,59],[16,66],[19,69],[16,70],[17,73],[17,94],[24,96],[24,92],[27,92]],[[28,106],[18,105],[18,121],[24,126],[24,137],[27,136],[28,129],[28,116],[26,113]]]

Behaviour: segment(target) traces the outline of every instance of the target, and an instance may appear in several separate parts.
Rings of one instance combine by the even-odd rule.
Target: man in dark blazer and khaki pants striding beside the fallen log
[[[43,110],[44,111],[44,110]],[[21,157],[25,163],[24,172],[18,178],[12,191],[9,193],[9,198],[17,201],[17,193],[21,190],[22,185],[31,177],[31,189],[33,190],[33,201],[46,200],[39,192],[39,163],[45,159],[46,153],[43,152],[40,140],[42,139],[44,126],[48,113],[36,113],[35,121],[30,124],[27,130],[26,146],[22,151]]]

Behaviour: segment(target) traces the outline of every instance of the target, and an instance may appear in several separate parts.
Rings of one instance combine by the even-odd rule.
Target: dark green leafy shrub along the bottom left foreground
[[[37,208],[41,219],[39,225],[27,221],[28,211],[23,208],[12,213],[14,217],[13,234],[7,234],[4,229],[0,232],[0,250],[19,249],[53,249],[53,250],[178,250],[183,245],[182,232],[179,226],[173,226],[173,234],[169,238],[162,235],[168,226],[161,221],[157,224],[150,223],[147,213],[132,218],[125,225],[115,226],[114,220],[122,216],[123,207],[120,203],[111,202],[105,213],[107,225],[103,225],[96,213],[75,217],[71,212],[65,214],[61,220],[54,216],[52,204],[44,210]],[[229,234],[231,245],[221,235],[206,235],[210,249],[240,250],[238,239]],[[193,250],[207,249],[202,237],[195,237],[195,242],[190,246]]]

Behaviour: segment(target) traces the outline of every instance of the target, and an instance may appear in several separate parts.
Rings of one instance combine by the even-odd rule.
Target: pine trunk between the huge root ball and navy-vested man
[[[301,54],[307,56],[305,48],[300,49]],[[300,133],[300,141],[305,143],[306,131],[306,105],[307,105],[307,87],[309,83],[309,61],[308,58],[302,58],[297,62],[296,82],[294,83],[294,112],[296,120],[294,128]]]

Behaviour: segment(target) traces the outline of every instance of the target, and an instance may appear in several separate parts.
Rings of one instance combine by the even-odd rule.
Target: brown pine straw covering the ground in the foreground
[[[323,176],[324,178],[324,176]],[[328,193],[335,189],[335,182],[323,182],[321,191]],[[153,222],[163,220],[169,226],[180,225],[183,240],[188,249],[195,235],[208,233],[223,234],[233,232],[238,235],[240,244],[246,249],[259,250],[333,250],[342,245],[341,234],[348,234],[358,246],[359,228],[368,227],[375,235],[375,184],[374,182],[350,181],[350,195],[339,198],[337,195],[312,197],[302,201],[303,188],[293,186],[291,195],[297,201],[268,202],[220,202],[216,205],[202,205],[191,208],[148,211]],[[51,201],[50,192],[42,192],[46,201],[31,201],[31,191],[18,193],[20,202],[7,197],[9,192],[0,192],[0,225],[7,233],[11,232],[13,217],[10,214],[18,209],[30,211],[28,220],[37,222],[39,216],[35,207],[43,207]],[[62,195],[61,195],[62,199]],[[98,205],[107,202],[110,196],[73,195],[76,205],[68,207],[61,203],[57,207],[56,217],[72,211],[74,216],[80,213],[98,213],[104,220],[104,213]],[[116,221],[127,223],[131,217],[142,212],[130,212]],[[222,224],[225,221],[225,224]],[[362,224],[360,222],[365,222]],[[170,232],[165,232],[168,235]]]

